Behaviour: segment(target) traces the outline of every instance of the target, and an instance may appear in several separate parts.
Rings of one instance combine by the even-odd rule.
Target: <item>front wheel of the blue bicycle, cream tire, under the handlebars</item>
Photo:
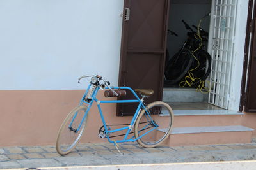
[[[74,108],[63,121],[56,141],[56,150],[61,155],[66,155],[76,147],[86,127],[87,106],[81,105]],[[84,121],[82,122],[84,117]],[[82,123],[81,123],[82,122]],[[79,126],[81,124],[80,129]]]

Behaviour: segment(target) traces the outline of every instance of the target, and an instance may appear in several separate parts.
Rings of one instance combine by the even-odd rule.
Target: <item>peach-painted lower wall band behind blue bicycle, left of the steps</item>
[[[84,90],[0,91],[0,145],[53,145],[61,123],[79,104],[83,93]],[[102,96],[102,91],[98,96]],[[116,117],[115,108],[113,103],[102,104],[108,124],[131,121],[131,117]],[[101,125],[94,103],[82,142],[102,142],[97,136]]]

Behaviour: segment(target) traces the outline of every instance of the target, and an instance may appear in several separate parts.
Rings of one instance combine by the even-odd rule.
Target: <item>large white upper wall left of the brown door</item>
[[[118,82],[120,0],[1,0],[0,90],[83,89],[77,78]]]

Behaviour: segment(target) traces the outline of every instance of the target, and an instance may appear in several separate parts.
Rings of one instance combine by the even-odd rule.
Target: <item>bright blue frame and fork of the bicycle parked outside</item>
[[[99,85],[98,85],[98,86],[97,86],[97,89],[95,89],[95,91],[94,91],[93,94],[92,94],[92,100],[91,100],[90,102],[87,102],[87,101],[84,100],[84,97],[86,97],[86,95],[88,94],[88,92],[89,92],[89,90],[90,90],[90,87],[91,87],[91,83],[90,83],[90,85],[88,85],[88,88],[87,88],[86,92],[84,93],[84,95],[83,95],[83,97],[82,97],[82,99],[81,99],[81,101],[80,101],[80,105],[82,105],[83,103],[86,103],[86,104],[88,104],[88,108],[87,108],[86,112],[84,113],[83,119],[81,120],[81,122],[80,122],[80,124],[79,124],[79,127],[76,129],[76,132],[78,132],[78,131],[80,130],[80,128],[81,128],[81,126],[82,126],[82,124],[83,124],[85,118],[86,118],[87,115],[88,115],[88,111],[90,110],[90,108],[91,108],[91,106],[92,106],[92,104],[93,104],[94,101],[97,103],[97,108],[98,108],[99,113],[100,113],[100,118],[101,118],[101,120],[102,120],[102,124],[103,124],[104,129],[105,129],[104,133],[106,134],[106,137],[107,137],[107,139],[108,139],[108,141],[109,141],[110,143],[122,143],[122,142],[129,142],[129,141],[134,142],[134,141],[136,141],[136,140],[142,138],[143,136],[145,136],[145,135],[148,134],[149,132],[154,131],[154,129],[156,129],[156,128],[158,127],[158,125],[157,125],[157,124],[152,120],[152,118],[150,117],[150,114],[148,113],[146,107],[145,107],[144,104],[143,104],[143,100],[141,100],[141,99],[138,97],[138,95],[134,92],[134,90],[132,90],[130,87],[111,87],[111,89],[125,89],[125,90],[130,90],[136,99],[129,99],[129,100],[104,100],[104,101],[99,101],[99,100],[96,98],[97,93],[98,93],[98,91],[99,91],[99,89],[100,89],[100,87],[99,87]],[[109,89],[109,88],[106,87],[106,89]],[[100,103],[138,103],[138,107],[137,107],[137,109],[136,109],[136,111],[135,111],[134,116],[132,117],[131,123],[130,123],[128,126],[122,127],[122,128],[118,128],[118,129],[114,129],[114,130],[110,130],[110,131],[109,131],[109,129],[108,129],[108,127],[107,127],[107,124],[106,124],[106,121],[105,121],[105,119],[104,119],[104,115],[103,115],[103,113],[102,113],[102,109],[100,108]],[[139,115],[141,109],[144,109],[144,110],[145,110],[145,113],[147,113],[147,115],[148,115],[149,121],[151,120],[150,122],[152,122],[152,123],[154,124],[154,128],[150,129],[150,131],[145,132],[145,134],[141,135],[139,138],[135,138],[135,136],[132,136],[130,139],[127,139],[129,133],[131,132],[132,128],[134,127],[134,124],[135,124],[135,122],[136,122],[136,120],[137,120],[137,118],[138,118],[138,115]],[[77,115],[77,113],[76,113],[76,114],[74,115],[74,117],[72,118],[72,122],[70,123],[70,126],[69,126],[69,127],[72,126],[72,123],[73,123],[74,119],[76,118],[76,115]],[[111,133],[113,133],[113,132],[124,131],[124,130],[127,130],[126,133],[125,133],[124,139],[122,139],[122,140],[117,140],[117,141],[112,141],[111,139],[109,139],[109,134],[111,134]]]

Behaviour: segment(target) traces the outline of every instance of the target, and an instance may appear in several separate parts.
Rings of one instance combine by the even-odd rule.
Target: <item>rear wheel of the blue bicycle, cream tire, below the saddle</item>
[[[145,148],[153,148],[168,138],[172,131],[173,111],[169,104],[155,101],[141,110],[135,126],[134,135]]]

